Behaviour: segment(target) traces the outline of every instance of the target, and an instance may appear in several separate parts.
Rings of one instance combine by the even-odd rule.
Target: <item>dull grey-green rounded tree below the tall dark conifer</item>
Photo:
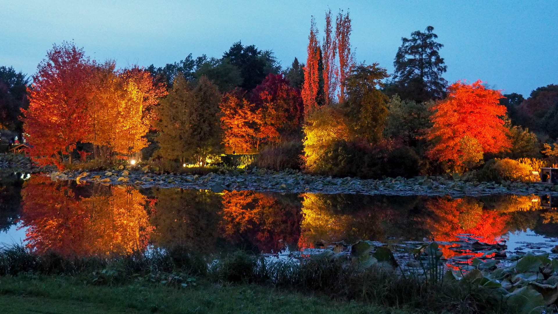
[[[388,116],[384,135],[392,139],[401,139],[407,145],[415,144],[425,135],[426,129],[432,127],[430,110],[427,103],[393,95],[388,103]]]

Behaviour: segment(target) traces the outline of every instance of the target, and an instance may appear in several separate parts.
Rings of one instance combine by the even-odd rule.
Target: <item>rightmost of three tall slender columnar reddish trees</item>
[[[353,71],[354,66],[354,53],[351,52],[350,45],[351,31],[352,27],[349,12],[343,15],[343,10],[339,10],[335,21],[335,41],[339,56],[339,68],[337,75],[340,83],[338,93],[339,103],[345,101],[345,80]]]

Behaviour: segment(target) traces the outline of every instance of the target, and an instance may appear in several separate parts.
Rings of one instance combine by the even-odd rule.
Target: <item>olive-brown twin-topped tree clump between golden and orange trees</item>
[[[206,157],[220,151],[220,94],[205,77],[191,89],[177,75],[169,95],[157,107],[161,130],[159,154],[168,159],[205,164]]]

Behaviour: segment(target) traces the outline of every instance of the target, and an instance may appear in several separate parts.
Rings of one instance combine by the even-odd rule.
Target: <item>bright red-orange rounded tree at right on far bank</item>
[[[446,161],[454,169],[472,165],[484,153],[498,153],[511,146],[504,126],[506,107],[499,104],[502,94],[473,84],[455,82],[448,88],[448,97],[435,104],[434,125],[426,137],[432,141],[427,155]]]

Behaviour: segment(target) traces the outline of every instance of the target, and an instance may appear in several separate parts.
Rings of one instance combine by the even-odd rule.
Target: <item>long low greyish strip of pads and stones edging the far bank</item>
[[[252,169],[227,174],[206,175],[163,174],[141,169],[105,170],[97,172],[51,172],[53,180],[76,180],[81,183],[127,184],[150,188],[210,189],[214,192],[258,191],[288,193],[350,193],[382,195],[450,195],[485,196],[493,194],[558,194],[558,185],[524,182],[465,182],[444,177],[386,178],[363,180],[331,178],[288,170],[272,172]]]

